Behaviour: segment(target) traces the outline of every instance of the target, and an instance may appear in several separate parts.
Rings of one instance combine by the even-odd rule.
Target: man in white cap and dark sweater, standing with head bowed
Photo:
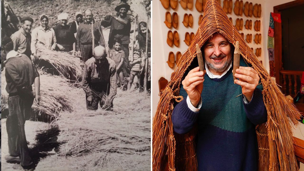
[[[2,40],[5,56],[6,91],[9,93],[9,116],[6,119],[9,155],[8,162],[20,162],[14,169],[32,169],[32,159],[26,142],[24,124],[29,119],[34,98],[40,101],[40,79],[32,61],[25,54],[13,50],[10,38]],[[35,84],[33,92],[32,84]]]

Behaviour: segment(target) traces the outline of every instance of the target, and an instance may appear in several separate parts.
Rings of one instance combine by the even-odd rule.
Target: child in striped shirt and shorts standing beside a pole
[[[137,75],[137,79],[139,83],[140,70],[141,70],[140,63],[141,63],[140,49],[139,49],[138,41],[136,40],[133,49],[133,61],[132,61],[132,51],[129,54],[129,64],[130,64],[131,72],[130,72],[130,80],[128,83],[128,90],[131,89],[135,75]]]

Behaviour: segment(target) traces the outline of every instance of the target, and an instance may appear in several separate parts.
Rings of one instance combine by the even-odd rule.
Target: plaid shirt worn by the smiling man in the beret
[[[11,39],[14,43],[14,51],[30,56],[31,53],[31,34],[26,34],[23,28],[12,34]]]

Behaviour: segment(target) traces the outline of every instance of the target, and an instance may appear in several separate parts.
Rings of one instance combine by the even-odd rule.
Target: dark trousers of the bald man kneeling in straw
[[[97,110],[98,109],[98,103],[101,108],[112,108],[113,107],[113,99],[107,98],[109,95],[109,89],[107,87],[102,88],[92,88],[91,90],[93,92],[93,100],[92,104],[89,104],[89,101],[87,100],[88,96],[86,95],[86,104],[88,110]]]

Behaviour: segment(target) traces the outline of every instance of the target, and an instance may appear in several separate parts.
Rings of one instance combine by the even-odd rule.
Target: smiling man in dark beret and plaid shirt
[[[31,17],[23,17],[21,20],[21,28],[12,34],[11,39],[14,43],[14,51],[25,54],[30,58],[31,52],[31,29],[33,19]]]

